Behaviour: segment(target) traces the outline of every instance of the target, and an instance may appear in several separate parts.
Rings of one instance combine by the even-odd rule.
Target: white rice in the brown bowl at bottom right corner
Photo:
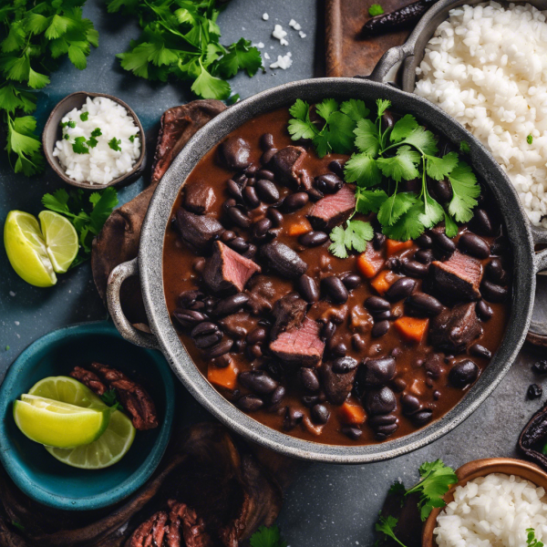
[[[529,480],[491,473],[454,492],[437,518],[439,547],[526,547],[528,528],[547,538],[545,490]]]

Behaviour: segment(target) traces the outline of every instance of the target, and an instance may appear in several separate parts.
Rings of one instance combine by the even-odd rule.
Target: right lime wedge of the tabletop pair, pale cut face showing
[[[76,228],[64,216],[53,211],[42,211],[38,219],[53,269],[57,274],[64,274],[77,255],[79,244]]]

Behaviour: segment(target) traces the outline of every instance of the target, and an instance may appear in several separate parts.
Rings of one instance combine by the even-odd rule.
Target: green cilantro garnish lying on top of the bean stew
[[[378,99],[376,116],[361,100],[351,99],[338,105],[327,98],[315,105],[317,119],[310,107],[297,100],[290,113],[288,130],[292,139],[310,139],[319,157],[329,152],[351,153],[346,161],[346,182],[356,183],[356,212],[377,213],[382,232],[399,241],[416,239],[428,228],[445,222],[446,233],[458,233],[456,222],[469,222],[477,205],[480,185],[470,166],[457,152],[439,157],[437,139],[407,114],[393,127],[384,127],[382,117],[391,106]],[[465,143],[467,145],[467,143]],[[469,145],[465,150],[469,150]],[[448,180],[453,196],[448,204],[436,201],[428,191],[428,178]],[[418,181],[420,191],[403,191],[401,181]],[[356,221],[350,221],[356,222]],[[349,232],[348,232],[349,231]],[[346,233],[347,232],[347,233]],[[342,247],[342,232],[331,233],[335,243],[331,251],[344,258],[346,251],[366,247],[355,245],[348,223]]]

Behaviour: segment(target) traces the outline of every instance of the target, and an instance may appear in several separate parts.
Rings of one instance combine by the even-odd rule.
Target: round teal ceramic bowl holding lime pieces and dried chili
[[[74,366],[98,361],[138,378],[158,409],[160,427],[137,431],[118,463],[104,470],[71,468],[27,439],[15,426],[13,402],[44,377],[67,376]],[[107,507],[138,490],[158,467],[170,439],[175,390],[159,351],[126,342],[109,322],[67,326],[36,340],[15,359],[0,387],[0,460],[32,499],[63,510]],[[1,495],[1,494],[0,494]]]

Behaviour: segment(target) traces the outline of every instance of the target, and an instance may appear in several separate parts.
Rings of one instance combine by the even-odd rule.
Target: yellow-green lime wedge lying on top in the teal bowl
[[[23,395],[14,403],[17,428],[43,445],[71,449],[97,440],[108,428],[108,408],[81,408],[53,399]]]

